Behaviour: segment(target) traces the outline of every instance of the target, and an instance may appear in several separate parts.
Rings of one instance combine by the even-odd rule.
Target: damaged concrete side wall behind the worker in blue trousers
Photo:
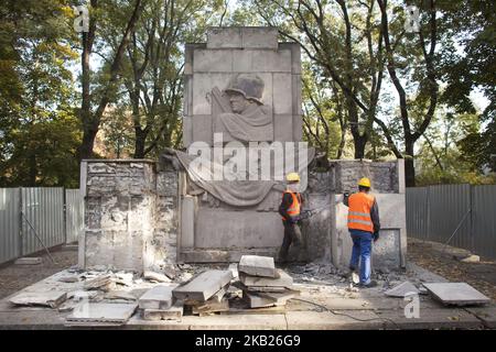
[[[335,163],[335,213],[332,231],[332,262],[347,267],[353,242],[347,229],[348,208],[343,205],[343,191],[356,191],[360,177],[370,177],[371,194],[379,207],[380,239],[374,244],[373,266],[392,270],[406,266],[407,220],[405,204],[403,160],[388,163],[343,161]]]

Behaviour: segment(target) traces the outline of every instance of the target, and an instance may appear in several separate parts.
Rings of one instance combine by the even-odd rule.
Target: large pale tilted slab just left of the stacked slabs
[[[230,271],[206,271],[174,288],[177,299],[207,300],[233,278]]]

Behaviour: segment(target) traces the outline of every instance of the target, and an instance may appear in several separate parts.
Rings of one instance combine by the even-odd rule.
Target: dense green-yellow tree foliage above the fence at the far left
[[[0,184],[74,186],[79,125],[66,1],[0,4]],[[6,79],[3,79],[6,77]],[[76,162],[75,162],[76,161]]]

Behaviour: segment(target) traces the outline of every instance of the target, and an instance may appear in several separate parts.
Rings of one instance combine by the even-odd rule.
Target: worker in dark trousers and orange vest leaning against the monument
[[[279,213],[284,226],[284,239],[279,251],[279,262],[281,263],[288,261],[288,252],[291,244],[300,246],[303,243],[298,224],[303,205],[303,197],[300,194],[300,175],[290,173],[285,179],[287,189],[282,194],[282,201],[279,206]]]

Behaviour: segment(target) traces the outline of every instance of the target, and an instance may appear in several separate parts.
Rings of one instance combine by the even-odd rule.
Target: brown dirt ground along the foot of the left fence
[[[37,265],[17,265],[13,262],[0,265],[0,298],[7,297],[18,290],[33,285],[39,280],[77,264],[77,251],[72,248],[57,248],[51,251],[55,263],[52,263],[46,253],[37,253],[43,258]]]

